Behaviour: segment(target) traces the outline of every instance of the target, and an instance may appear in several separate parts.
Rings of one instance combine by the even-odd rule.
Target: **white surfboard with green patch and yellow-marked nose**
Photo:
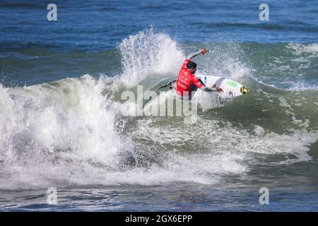
[[[214,84],[220,87],[223,90],[223,93],[218,93],[220,99],[238,97],[249,92],[249,90],[244,85],[232,81],[228,78],[204,75],[196,75],[196,78],[201,79],[201,81],[204,82],[204,84],[208,87],[212,87],[212,85]]]

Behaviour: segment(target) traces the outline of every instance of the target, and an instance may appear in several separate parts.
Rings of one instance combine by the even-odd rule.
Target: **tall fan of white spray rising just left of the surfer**
[[[184,56],[177,43],[154,28],[130,35],[118,46],[122,54],[123,73],[120,81],[132,87],[150,74],[177,73]]]

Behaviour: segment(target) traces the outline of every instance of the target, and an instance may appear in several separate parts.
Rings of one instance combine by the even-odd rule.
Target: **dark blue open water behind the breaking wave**
[[[1,45],[59,50],[114,49],[124,37],[153,25],[177,42],[317,42],[317,1],[55,1],[1,2]]]

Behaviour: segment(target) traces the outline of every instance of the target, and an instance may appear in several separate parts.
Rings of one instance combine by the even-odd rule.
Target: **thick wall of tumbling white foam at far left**
[[[115,165],[124,142],[114,129],[116,109],[109,109],[111,103],[101,95],[102,88],[102,81],[88,75],[52,85],[0,88],[4,105],[0,108],[1,178],[41,183],[37,177],[51,169],[66,173],[59,166],[68,160]],[[54,164],[56,157],[61,165]],[[25,174],[30,174],[30,179]]]

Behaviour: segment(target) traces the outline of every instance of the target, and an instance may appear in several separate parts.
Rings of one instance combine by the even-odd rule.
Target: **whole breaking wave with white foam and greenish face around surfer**
[[[194,60],[199,70],[247,85],[248,95],[224,102],[201,95],[196,124],[122,116],[123,106],[134,105],[121,100],[123,90],[153,90],[177,74],[185,52],[200,46],[143,30],[117,50],[96,53],[114,55],[113,71],[109,64],[99,76],[22,87],[3,82],[0,189],[226,184],[261,167],[315,160],[317,44],[206,44],[211,54]],[[88,57],[61,57],[68,54],[74,61]]]

